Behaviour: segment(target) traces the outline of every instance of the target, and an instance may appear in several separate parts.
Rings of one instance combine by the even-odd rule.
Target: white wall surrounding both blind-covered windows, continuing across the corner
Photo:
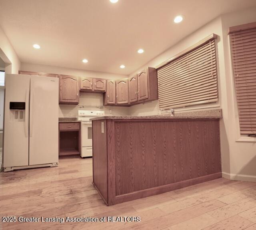
[[[131,75],[136,74],[146,66],[155,67],[208,35],[212,33],[217,34],[219,101],[211,105],[193,106],[185,109],[176,109],[176,111],[194,111],[196,109],[208,109],[211,106],[222,108],[223,118],[220,120],[220,142],[224,176],[232,179],[256,181],[256,138],[241,137],[239,132],[227,34],[230,26],[250,22],[256,22],[256,8],[222,15],[152,59]],[[153,115],[158,113],[158,101],[144,105],[135,105],[130,109],[131,115]],[[243,140],[246,140],[246,142]]]

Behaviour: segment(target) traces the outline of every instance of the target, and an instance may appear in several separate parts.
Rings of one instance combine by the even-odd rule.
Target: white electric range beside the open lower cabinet
[[[104,116],[104,111],[78,110],[81,121],[81,157],[92,157],[92,121],[91,118]]]

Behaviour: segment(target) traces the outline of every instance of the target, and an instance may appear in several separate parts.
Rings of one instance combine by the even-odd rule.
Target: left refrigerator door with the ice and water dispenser
[[[5,86],[4,168],[27,166],[30,75],[6,74]]]

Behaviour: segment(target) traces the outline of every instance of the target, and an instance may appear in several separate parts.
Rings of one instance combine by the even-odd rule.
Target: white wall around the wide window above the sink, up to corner
[[[136,74],[138,71],[142,70],[146,66],[156,67],[160,63],[166,61],[167,59],[175,56],[176,54],[182,52],[186,48],[193,46],[200,40],[206,38],[210,34],[217,34],[217,60],[218,60],[218,86],[219,86],[219,100],[216,103],[198,105],[192,107],[185,107],[181,109],[175,109],[176,112],[182,111],[195,111],[202,109],[219,109],[223,110],[223,119],[220,121],[220,138],[221,138],[221,153],[222,153],[222,169],[224,171],[230,171],[230,159],[229,159],[229,145],[227,141],[226,132],[226,119],[227,115],[227,100],[226,100],[226,75],[224,66],[224,52],[223,52],[223,41],[222,41],[222,24],[221,17],[218,17],[202,28],[198,29],[194,33],[190,34],[188,37],[184,38],[176,45],[172,46],[156,58],[152,59],[150,62],[146,63],[142,68],[138,69],[130,76]],[[145,103],[144,105],[135,105],[130,109],[131,115],[155,115],[159,113],[158,101],[152,103]]]

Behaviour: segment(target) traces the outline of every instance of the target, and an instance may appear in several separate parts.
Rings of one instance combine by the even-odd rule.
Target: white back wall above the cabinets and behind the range
[[[81,77],[96,77],[96,78],[105,78],[105,79],[122,79],[127,77],[126,75],[113,74],[113,73],[103,73],[97,71],[86,71],[81,69],[70,69],[56,66],[48,65],[34,65],[28,63],[22,63],[20,70],[23,71],[34,71],[34,72],[43,72],[43,73],[57,73],[57,74],[66,74],[74,75]],[[77,117],[78,109],[86,110],[104,110],[106,115],[128,115],[128,107],[119,107],[119,106],[103,106],[103,109],[92,108],[90,106],[98,105],[103,106],[103,95],[100,93],[81,93],[79,105],[59,105],[59,117]],[[80,106],[85,106],[80,108]]]

